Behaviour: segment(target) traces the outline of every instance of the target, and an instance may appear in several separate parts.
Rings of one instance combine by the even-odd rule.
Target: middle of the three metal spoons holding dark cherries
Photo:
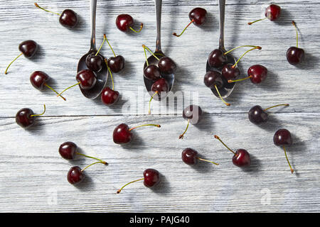
[[[155,0],[154,1],[156,6],[156,51],[154,51],[154,55],[159,55],[160,57],[164,57],[164,52],[161,51],[161,8],[162,8],[162,0]],[[156,57],[151,55],[148,57],[149,65],[158,65],[158,60]],[[146,67],[146,62],[144,63],[144,68]],[[161,77],[166,79],[166,82],[169,84],[169,92],[171,91],[174,85],[174,74],[161,74]],[[146,79],[144,77],[144,85],[146,86],[146,90],[150,94],[150,96],[154,95],[154,92],[151,92],[151,86],[154,83],[151,79]],[[166,94],[168,94],[167,92]],[[164,98],[165,96],[154,96],[154,99],[160,100],[160,98]]]

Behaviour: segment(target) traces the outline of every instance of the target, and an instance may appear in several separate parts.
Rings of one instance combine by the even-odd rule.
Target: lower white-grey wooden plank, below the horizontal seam
[[[274,114],[260,128],[246,114],[206,114],[179,140],[186,126],[180,116],[43,117],[29,131],[18,127],[14,118],[1,118],[0,138],[6,142],[0,150],[0,211],[319,211],[319,119],[319,114]],[[132,143],[122,147],[112,141],[114,126],[122,122],[160,123],[161,128],[139,128]],[[288,148],[294,175],[283,150],[272,142],[280,127],[288,128],[294,138]],[[214,134],[232,149],[247,149],[252,167],[235,167],[232,153]],[[85,167],[92,161],[63,160],[58,147],[66,140],[110,165],[92,166],[80,187],[70,185],[70,166]],[[184,164],[181,152],[187,147],[220,165]],[[115,193],[122,184],[142,177],[147,167],[163,175],[154,192],[137,182]]]

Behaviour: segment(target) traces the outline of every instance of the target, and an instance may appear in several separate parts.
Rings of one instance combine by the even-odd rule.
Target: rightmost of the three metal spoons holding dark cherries
[[[224,26],[225,26],[225,0],[219,0],[219,14],[220,14],[220,38],[219,38],[219,50],[222,52],[226,52],[225,50],[225,36],[224,36]],[[233,55],[227,54],[227,63],[226,64],[232,64],[235,65],[235,57]],[[215,68],[215,67],[210,67],[209,62],[207,61],[207,66],[206,66],[206,72],[208,71],[218,71],[221,73],[222,68]],[[233,92],[233,89],[235,88],[235,82],[234,83],[228,83],[228,81],[222,77],[223,79],[223,87],[221,87],[219,90],[221,96],[223,98],[227,98],[230,96],[230,94]],[[220,98],[218,92],[214,89],[211,89],[213,94]]]

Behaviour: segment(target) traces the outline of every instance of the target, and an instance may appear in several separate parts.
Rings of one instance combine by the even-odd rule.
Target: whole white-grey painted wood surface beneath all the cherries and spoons
[[[122,100],[112,108],[99,100],[85,99],[78,88],[65,92],[67,101],[49,90],[33,89],[29,76],[35,70],[47,72],[58,91],[74,84],[78,59],[87,52],[90,42],[87,0],[38,1],[53,11],[77,11],[81,21],[75,31],[60,26],[56,16],[36,9],[33,2],[0,1],[1,72],[18,55],[21,41],[33,39],[41,45],[34,60],[21,57],[9,74],[0,76],[1,212],[320,211],[320,1],[277,1],[283,9],[282,18],[276,23],[263,21],[252,26],[247,22],[260,18],[269,1],[227,1],[226,48],[261,45],[262,50],[250,52],[240,67],[246,72],[250,65],[262,64],[270,70],[263,84],[239,83],[228,98],[230,107],[224,106],[203,84],[206,58],[218,45],[218,1],[164,1],[162,47],[178,65],[173,92],[183,92],[184,104],[178,101],[178,111],[169,107],[164,112],[166,103],[154,102],[152,116],[146,114],[149,96],[143,93],[142,44],[154,49],[153,1],[98,1],[97,43],[106,33],[114,51],[127,61],[124,72],[114,74],[115,89],[122,94]],[[182,30],[188,23],[188,12],[195,6],[207,9],[207,23],[202,28],[191,26],[181,38],[175,38],[171,33]],[[137,24],[143,22],[142,33],[117,30],[114,20],[120,13],[131,14]],[[299,28],[299,45],[306,51],[306,61],[300,67],[289,65],[285,58],[287,48],[295,45],[292,20]],[[240,56],[242,51],[237,50],[234,55]],[[106,56],[112,54],[107,45],[102,52]],[[206,114],[199,126],[189,127],[185,138],[178,140],[186,126],[181,111],[191,99],[198,99]],[[274,109],[265,126],[248,121],[251,106],[279,103],[290,106]],[[38,113],[42,104],[47,105],[47,112],[38,118],[37,126],[25,131],[16,125],[14,116],[19,109],[29,107]],[[162,115],[156,108],[158,104]],[[113,143],[112,131],[119,123],[137,126],[146,122],[160,123],[162,127],[137,129],[134,141],[124,147]],[[294,145],[288,149],[294,175],[283,150],[273,145],[272,137],[278,128],[287,128],[294,135]],[[232,154],[213,139],[214,134],[231,148],[247,149],[253,156],[251,169],[235,167]],[[66,180],[68,169],[72,165],[84,167],[91,160],[63,160],[58,147],[67,140],[110,165],[91,167],[85,182],[73,187]],[[181,152],[187,147],[220,165],[185,165]],[[122,184],[142,177],[148,167],[164,176],[157,189],[152,191],[137,182],[122,194],[115,194]]]

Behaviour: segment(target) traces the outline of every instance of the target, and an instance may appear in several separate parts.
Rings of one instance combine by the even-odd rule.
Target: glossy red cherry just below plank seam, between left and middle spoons
[[[144,124],[141,126],[136,126],[134,128],[140,128],[143,126],[156,126],[158,128],[161,127],[160,125],[155,125],[155,124]],[[129,128],[129,126],[125,123],[119,124],[119,126],[114,128],[113,135],[112,135],[113,142],[117,144],[129,143],[132,140],[132,130],[134,128]]]

